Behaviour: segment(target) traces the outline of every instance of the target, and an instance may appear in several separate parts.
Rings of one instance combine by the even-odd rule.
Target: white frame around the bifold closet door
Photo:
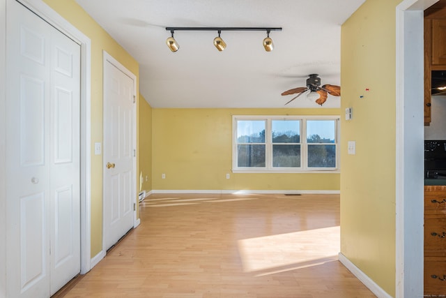
[[[1,19],[6,20],[6,2],[0,0]],[[17,0],[81,46],[80,80],[80,194],[81,274],[91,269],[91,40],[42,0]],[[0,22],[0,140],[6,138],[6,22]],[[0,164],[6,162],[6,145],[0,144]],[[6,264],[6,170],[0,171],[0,263]],[[6,296],[6,267],[0,267],[0,297]]]

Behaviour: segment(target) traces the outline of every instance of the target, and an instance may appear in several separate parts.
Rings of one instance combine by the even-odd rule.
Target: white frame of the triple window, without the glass
[[[237,164],[237,121],[240,120],[263,120],[266,122],[265,127],[265,144],[266,156],[265,167],[238,167]],[[272,120],[299,120],[300,121],[300,167],[272,167]],[[308,120],[334,120],[336,162],[335,167],[308,167],[308,143],[307,143],[307,121]],[[339,173],[339,116],[337,115],[318,115],[318,116],[300,116],[300,115],[233,115],[232,117],[232,172],[240,173]],[[312,143],[310,143],[312,144]],[[325,143],[322,143],[325,144]]]

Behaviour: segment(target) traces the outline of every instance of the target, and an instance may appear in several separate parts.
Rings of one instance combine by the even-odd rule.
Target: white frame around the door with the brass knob
[[[133,171],[132,171],[132,177],[133,177],[133,184],[132,184],[132,194],[133,194],[133,228],[137,228],[139,223],[141,223],[141,220],[137,218],[137,76],[134,75],[128,68],[123,66],[118,60],[114,59],[111,54],[107,53],[105,50],[102,50],[102,74],[103,77],[105,77],[105,64],[110,63],[114,65],[118,70],[121,70],[125,75],[128,75],[133,80],[133,96],[134,96],[134,104],[133,104],[133,149],[134,149],[134,156],[133,156]],[[104,89],[104,82],[102,82],[102,89]],[[103,91],[103,94],[105,94],[105,91]],[[102,100],[102,103],[105,105],[105,100]],[[102,119],[103,121],[103,119]],[[105,123],[102,123],[102,126],[104,126]],[[104,144],[104,141],[102,140],[102,144]],[[102,166],[105,165],[106,161],[103,159],[104,155],[102,154]],[[104,178],[105,175],[102,175],[102,214],[105,214],[105,181]],[[105,255],[106,253],[106,246],[105,246],[105,216],[102,216],[102,253]]]

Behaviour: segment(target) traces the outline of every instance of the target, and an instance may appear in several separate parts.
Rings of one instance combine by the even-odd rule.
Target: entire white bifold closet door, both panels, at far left
[[[8,297],[49,297],[80,271],[80,48],[7,1]]]

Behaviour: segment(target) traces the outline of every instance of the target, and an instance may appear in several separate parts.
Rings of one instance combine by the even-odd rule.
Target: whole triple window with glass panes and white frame
[[[335,116],[234,116],[233,170],[337,171],[338,124]]]

